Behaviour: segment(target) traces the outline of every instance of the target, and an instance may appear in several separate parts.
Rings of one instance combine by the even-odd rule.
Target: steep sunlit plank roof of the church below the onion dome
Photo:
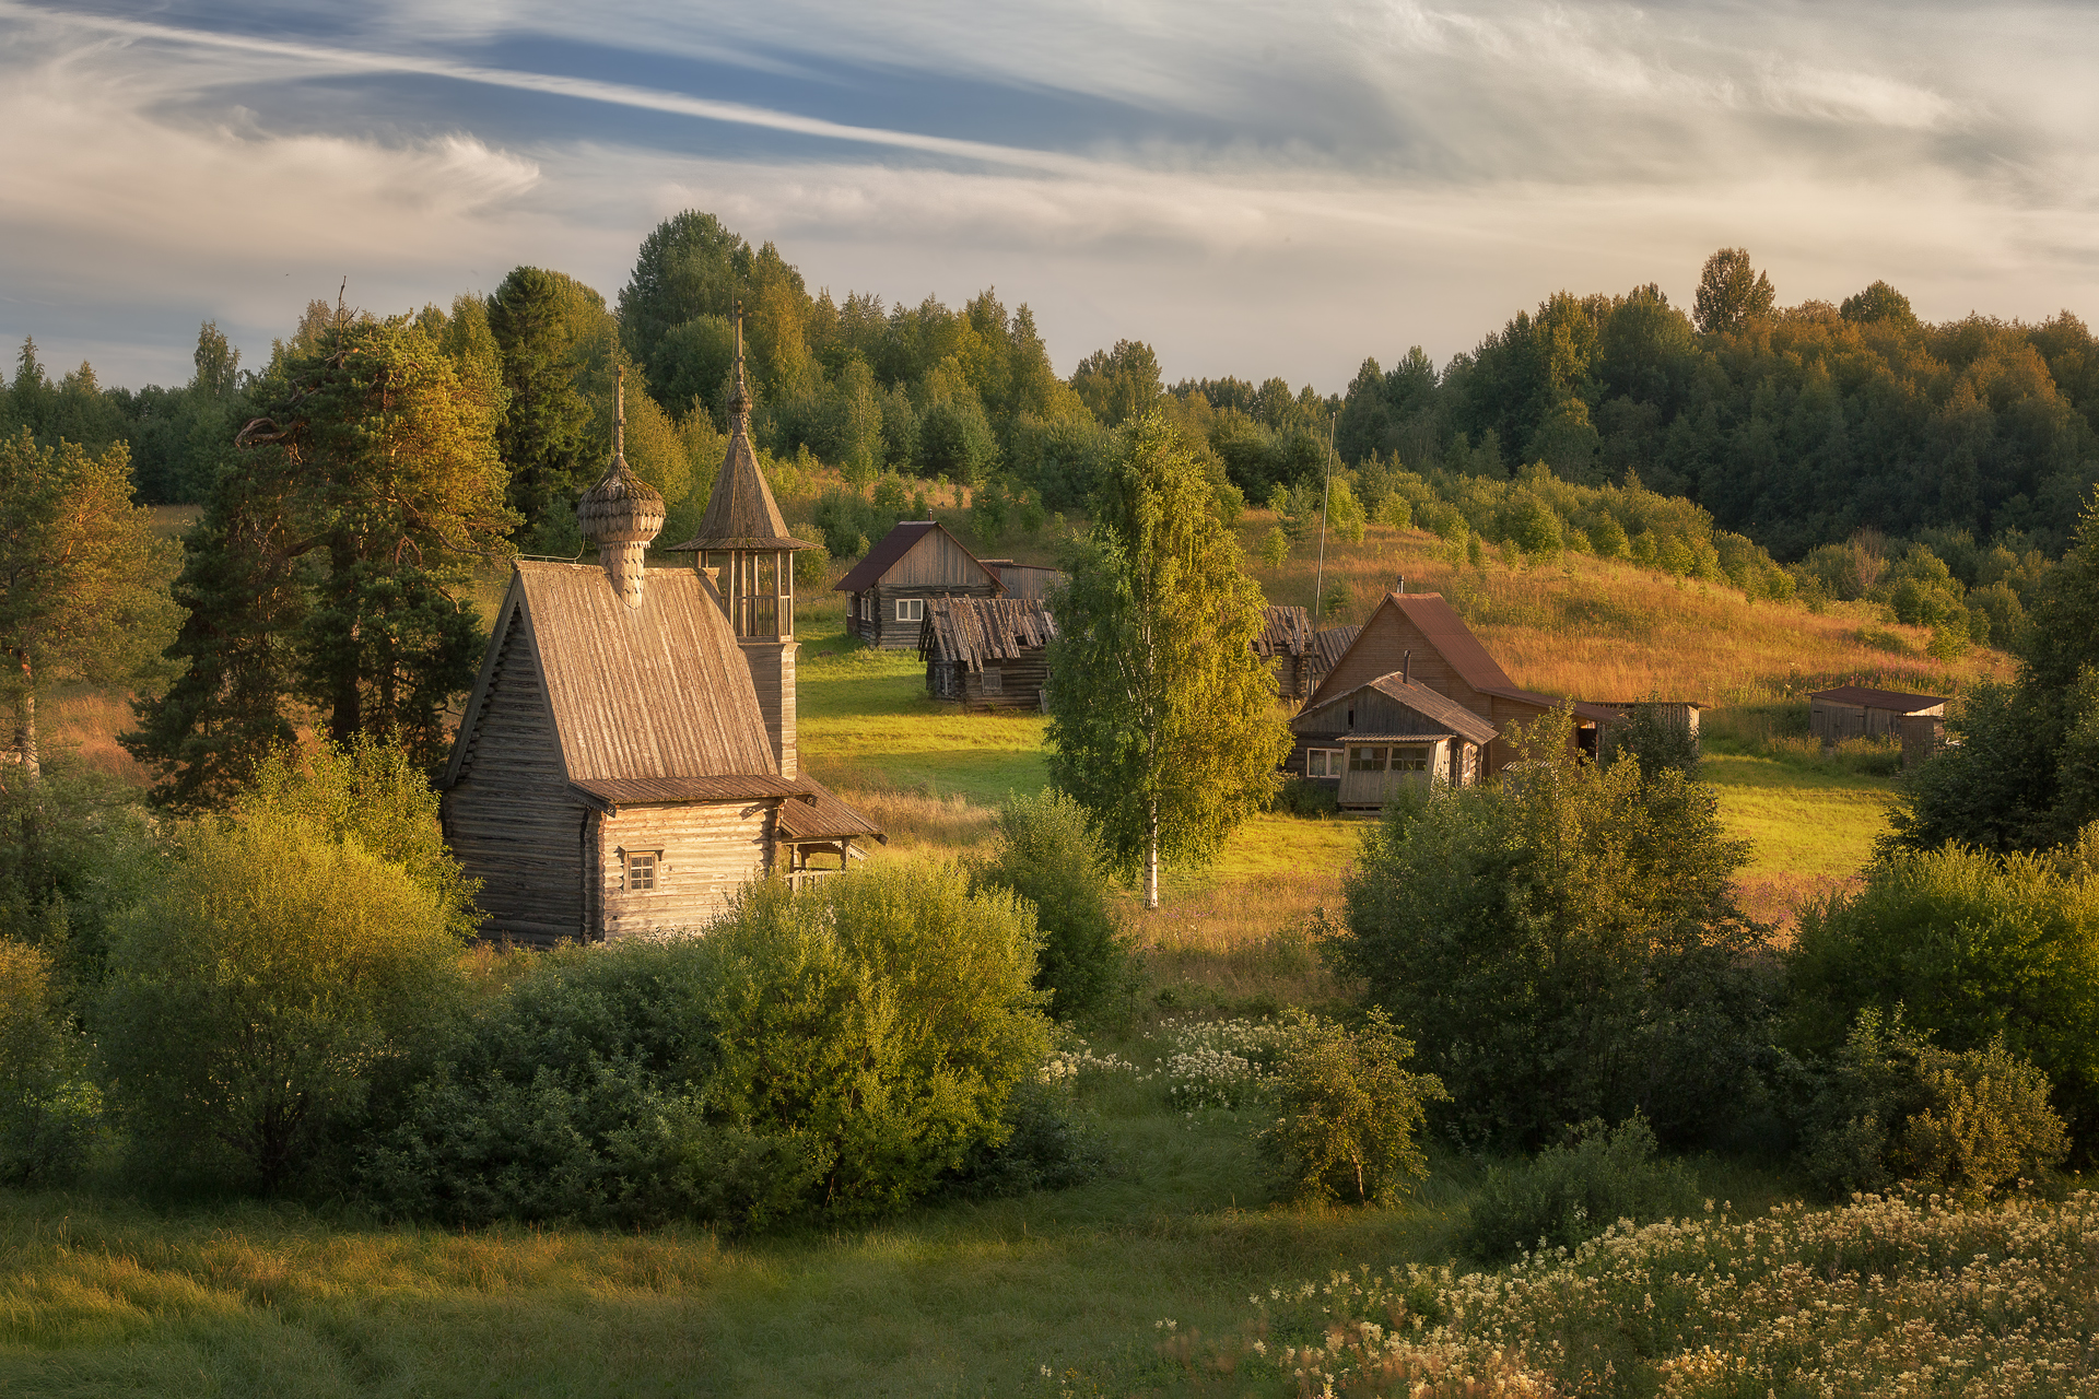
[[[630,608],[602,568],[521,562],[497,638],[512,608],[531,631],[571,782],[779,778],[751,671],[697,573],[651,568]]]

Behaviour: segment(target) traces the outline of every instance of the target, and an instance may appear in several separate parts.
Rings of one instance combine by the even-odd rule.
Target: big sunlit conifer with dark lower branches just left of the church
[[[176,805],[222,801],[290,738],[294,701],[327,734],[393,736],[434,763],[472,684],[470,564],[518,518],[495,453],[502,386],[445,346],[443,317],[338,313],[281,348],[256,388],[239,468],[185,539],[170,657],[126,745]]]

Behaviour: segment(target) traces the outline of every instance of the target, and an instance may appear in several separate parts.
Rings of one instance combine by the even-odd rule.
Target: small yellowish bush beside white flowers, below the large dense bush
[[[1261,1149],[1297,1200],[1398,1204],[1427,1179],[1415,1141],[1427,1103],[1448,1095],[1434,1074],[1408,1074],[1415,1047],[1383,1011],[1350,1032],[1293,1013],[1289,1049],[1270,1082],[1280,1114]]]

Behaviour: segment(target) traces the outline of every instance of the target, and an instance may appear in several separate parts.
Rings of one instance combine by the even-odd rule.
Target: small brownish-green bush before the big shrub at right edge
[[[1862,1011],[1816,1093],[1801,1158],[1830,1193],[1895,1181],[1986,1198],[2063,1164],[2070,1139],[2049,1076],[1992,1040],[1952,1053]]]

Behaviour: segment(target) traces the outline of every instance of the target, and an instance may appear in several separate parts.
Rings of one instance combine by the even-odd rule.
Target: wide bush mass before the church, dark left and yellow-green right
[[[957,870],[751,885],[705,938],[548,956],[403,1095],[365,1189],[460,1223],[865,1217],[1016,1128],[1033,927]]]

